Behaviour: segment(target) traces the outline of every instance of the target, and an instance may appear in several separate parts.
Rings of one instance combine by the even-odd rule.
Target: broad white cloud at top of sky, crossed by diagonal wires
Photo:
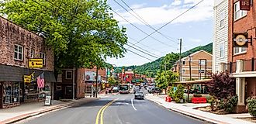
[[[144,20],[146,20],[150,25],[163,24],[171,21],[176,16],[180,15],[182,12],[185,12],[189,9],[188,6],[195,5],[200,0],[184,0],[183,5],[172,6],[162,5],[156,7],[143,7],[139,9],[133,9],[137,12]],[[210,1],[210,2],[209,2]],[[176,2],[176,1],[175,1]],[[119,11],[119,15],[122,15],[123,18],[129,20],[129,22],[143,24],[137,20],[133,15],[130,15],[129,12]],[[123,20],[119,15],[115,15],[115,18],[119,20],[120,24],[128,24]],[[182,15],[178,19],[175,19],[174,23],[185,23],[185,22],[199,22],[212,19],[213,16],[213,0],[207,0],[201,2],[194,9],[191,9],[189,12],[186,12],[185,15]]]

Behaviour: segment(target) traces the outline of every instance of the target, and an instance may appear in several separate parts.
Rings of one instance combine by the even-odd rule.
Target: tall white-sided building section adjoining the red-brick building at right
[[[228,0],[214,0],[213,73],[223,71],[228,59]]]

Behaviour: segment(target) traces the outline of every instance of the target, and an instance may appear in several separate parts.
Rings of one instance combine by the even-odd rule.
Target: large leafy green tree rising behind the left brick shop
[[[5,0],[0,12],[43,35],[54,49],[55,67],[104,67],[106,57],[123,57],[126,28],[113,19],[106,0]]]

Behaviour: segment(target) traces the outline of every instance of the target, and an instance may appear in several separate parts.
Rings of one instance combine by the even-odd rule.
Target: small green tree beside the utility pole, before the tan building
[[[172,71],[166,71],[166,74],[165,74],[165,71],[162,71],[160,75],[160,72],[157,72],[156,81],[157,81],[158,88],[166,89],[168,88],[168,85],[170,85],[175,81],[178,81],[178,74]]]

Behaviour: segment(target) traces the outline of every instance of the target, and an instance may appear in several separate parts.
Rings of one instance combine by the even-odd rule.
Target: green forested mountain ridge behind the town
[[[205,46],[199,46],[199,47],[192,48],[191,50],[187,50],[184,53],[182,53],[182,57],[187,57],[189,56],[190,53],[195,53],[196,51],[199,51],[199,50],[205,50],[208,53],[213,53],[213,43],[209,43]],[[128,69],[132,69],[133,71],[135,71],[136,74],[147,74],[147,77],[154,77],[157,74],[157,71],[159,71],[160,69],[162,60],[164,60],[164,58],[168,57],[170,54],[171,53],[167,54],[164,57],[160,57],[157,60],[154,60],[152,62],[143,64],[140,66],[133,65],[129,67],[117,67],[116,72],[120,73],[122,71],[122,68],[124,68],[125,71],[127,71]]]

